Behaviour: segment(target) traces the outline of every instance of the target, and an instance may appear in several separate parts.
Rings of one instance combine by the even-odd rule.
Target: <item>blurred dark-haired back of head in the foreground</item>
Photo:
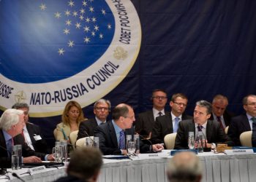
[[[99,149],[86,147],[72,152],[67,173],[88,180],[99,173],[100,167],[102,167],[102,153]]]

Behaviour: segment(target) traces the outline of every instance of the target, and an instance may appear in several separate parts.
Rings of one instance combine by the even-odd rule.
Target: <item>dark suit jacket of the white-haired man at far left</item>
[[[35,152],[25,143],[24,138],[21,134],[15,136],[13,138],[14,145],[22,145],[22,156],[23,157],[30,157],[30,156],[37,156],[40,157],[42,160],[45,160],[45,154]],[[7,152],[7,145],[5,143],[4,133],[3,130],[0,129],[0,162],[7,162],[8,166],[11,166],[11,158],[8,157]]]

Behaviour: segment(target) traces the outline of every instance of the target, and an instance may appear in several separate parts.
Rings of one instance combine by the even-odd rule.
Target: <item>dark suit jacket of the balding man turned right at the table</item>
[[[134,135],[134,128],[125,130],[125,138],[127,135]],[[110,154],[121,154],[121,150],[118,149],[118,141],[116,138],[116,130],[113,123],[106,122],[105,124],[99,125],[96,130],[94,130],[94,136],[99,137],[99,149],[102,151],[103,155]],[[126,140],[125,140],[126,141]],[[150,142],[150,141],[149,141]],[[151,142],[150,142],[151,143]],[[149,151],[151,144],[146,144],[140,140],[140,153],[146,153]]]

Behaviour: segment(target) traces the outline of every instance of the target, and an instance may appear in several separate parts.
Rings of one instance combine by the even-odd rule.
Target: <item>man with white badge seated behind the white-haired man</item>
[[[29,105],[27,103],[15,103],[12,108],[23,111],[25,126],[23,127],[22,135],[28,146],[37,152],[48,154],[50,149],[45,141],[40,127],[29,122]]]

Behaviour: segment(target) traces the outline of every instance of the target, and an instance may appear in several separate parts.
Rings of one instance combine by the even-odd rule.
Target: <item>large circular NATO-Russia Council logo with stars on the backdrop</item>
[[[35,117],[104,97],[140,50],[140,20],[127,0],[1,0],[0,23],[1,110],[26,102]]]

